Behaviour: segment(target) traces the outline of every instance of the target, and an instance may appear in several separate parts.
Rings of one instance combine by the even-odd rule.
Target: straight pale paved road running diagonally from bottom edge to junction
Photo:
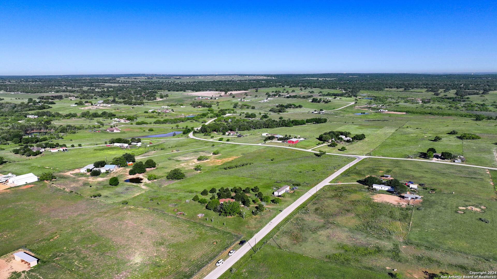
[[[281,213],[279,213],[276,217],[274,217],[267,225],[265,225],[252,238],[250,238],[248,240],[248,243],[246,243],[244,246],[241,246],[239,249],[235,248],[235,249],[237,249],[237,252],[235,252],[235,254],[233,254],[233,256],[231,256],[231,257],[228,256],[228,258],[224,259],[224,264],[222,264],[221,266],[219,266],[215,270],[213,270],[211,273],[209,273],[205,277],[205,279],[217,279],[221,275],[223,275],[223,273],[225,273],[227,270],[229,270],[233,264],[235,264],[238,260],[240,260],[247,252],[249,252],[252,249],[251,247],[255,247],[257,242],[259,242],[266,234],[268,234],[272,229],[274,229],[281,221],[283,221],[283,219],[285,219],[288,215],[290,215],[290,213],[292,213],[293,210],[297,209],[305,201],[307,201],[309,198],[311,198],[311,196],[313,194],[316,194],[319,189],[328,185],[331,180],[336,178],[342,172],[344,172],[349,167],[355,165],[357,162],[362,160],[363,157],[364,156],[356,158],[354,161],[346,164],[344,167],[337,170],[331,176],[329,176],[325,180],[321,181],[318,185],[314,186],[311,190],[309,190],[307,193],[302,195],[302,197],[297,199],[297,201],[293,202],[289,207],[287,207],[286,209],[283,209],[283,211]]]

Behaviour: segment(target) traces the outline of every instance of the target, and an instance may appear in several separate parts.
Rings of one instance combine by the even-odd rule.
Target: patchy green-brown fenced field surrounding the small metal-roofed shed
[[[1,254],[25,246],[41,259],[39,267],[13,278],[53,278],[54,269],[74,275],[65,278],[190,278],[239,238],[36,184],[0,192]]]

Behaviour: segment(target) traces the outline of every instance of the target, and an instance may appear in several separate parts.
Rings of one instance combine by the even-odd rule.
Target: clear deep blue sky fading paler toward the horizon
[[[473,2],[0,0],[0,75],[497,71]]]

